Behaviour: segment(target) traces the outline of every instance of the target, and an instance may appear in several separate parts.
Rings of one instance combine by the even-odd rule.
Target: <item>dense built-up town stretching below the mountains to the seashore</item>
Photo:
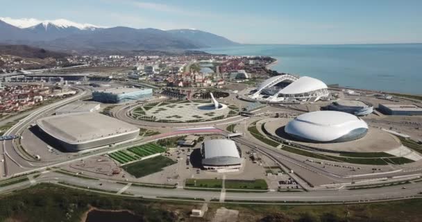
[[[0,80],[6,83],[35,80],[60,82],[66,76],[85,72],[85,76],[130,78],[159,87],[221,87],[225,82],[254,83],[256,79],[278,74],[268,69],[276,60],[267,56],[219,56],[207,53],[200,56],[72,56],[67,61],[75,68],[58,66],[42,69],[44,76],[26,71],[20,66],[21,63],[14,63],[10,70],[17,71],[0,76]],[[108,70],[105,74],[102,71],[105,68],[116,71]],[[57,78],[60,75],[61,79]]]

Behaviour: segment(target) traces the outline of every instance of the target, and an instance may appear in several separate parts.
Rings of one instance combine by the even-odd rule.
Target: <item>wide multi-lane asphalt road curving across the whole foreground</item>
[[[31,176],[29,176],[31,178]],[[86,189],[101,189],[106,192],[117,194],[126,185],[121,185],[113,180],[87,180],[75,178],[61,173],[44,172],[38,178],[31,181],[20,182],[9,187],[0,187],[0,194],[16,189],[22,189],[41,182],[57,183]],[[101,185],[100,185],[101,184]],[[89,188],[88,188],[89,187]],[[226,192],[223,200],[255,201],[258,204],[262,201],[286,201],[286,202],[366,202],[374,200],[387,200],[399,198],[413,198],[420,196],[422,187],[419,183],[411,183],[403,186],[390,186],[378,189],[356,189],[340,191],[311,191],[311,192],[278,192],[269,191],[265,193],[231,193]],[[203,198],[205,200],[221,199],[221,192],[214,191],[192,191],[183,188],[158,189],[149,187],[130,186],[122,194],[133,194],[135,197],[143,198]]]

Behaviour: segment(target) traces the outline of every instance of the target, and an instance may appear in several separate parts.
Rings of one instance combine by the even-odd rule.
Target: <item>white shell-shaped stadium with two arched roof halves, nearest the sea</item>
[[[251,91],[248,97],[257,101],[277,103],[314,102],[328,95],[328,87],[321,80],[283,74],[264,80],[257,89]]]

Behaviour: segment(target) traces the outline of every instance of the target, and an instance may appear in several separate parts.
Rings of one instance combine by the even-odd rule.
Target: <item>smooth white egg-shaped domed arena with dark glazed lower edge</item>
[[[285,126],[285,133],[302,142],[338,143],[360,139],[368,132],[362,119],[346,112],[317,111],[301,114]]]

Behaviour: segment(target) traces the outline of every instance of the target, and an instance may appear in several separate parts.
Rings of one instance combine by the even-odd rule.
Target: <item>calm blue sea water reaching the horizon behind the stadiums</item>
[[[201,49],[235,56],[271,56],[271,69],[327,84],[422,94],[422,44],[242,45]]]

